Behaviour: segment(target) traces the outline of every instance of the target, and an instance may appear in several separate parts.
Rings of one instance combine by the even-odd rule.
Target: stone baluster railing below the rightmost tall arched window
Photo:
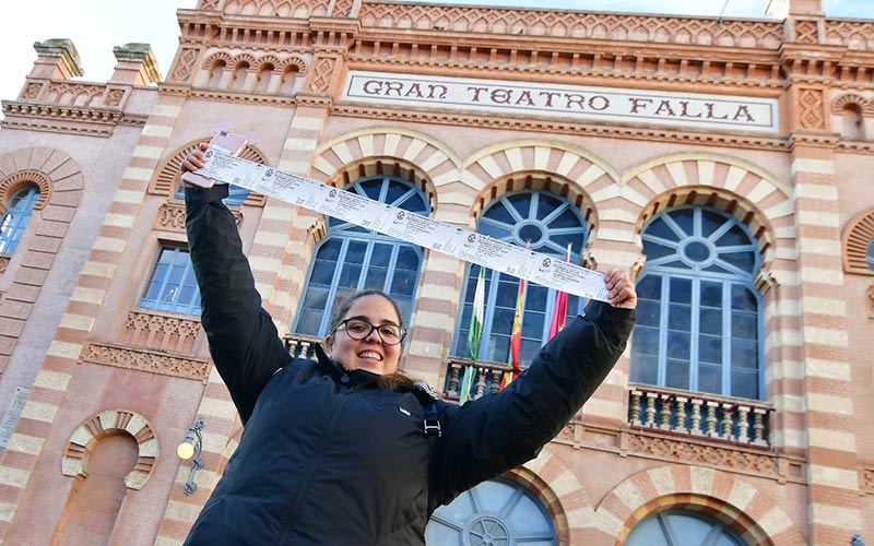
[[[631,385],[628,423],[633,428],[770,449],[768,420],[773,407],[755,401],[701,392]]]

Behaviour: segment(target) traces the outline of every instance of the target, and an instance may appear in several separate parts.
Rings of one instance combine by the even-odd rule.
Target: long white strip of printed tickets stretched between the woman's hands
[[[604,275],[469,229],[283,173],[221,150],[198,175],[233,183],[383,235],[583,298],[606,301]]]

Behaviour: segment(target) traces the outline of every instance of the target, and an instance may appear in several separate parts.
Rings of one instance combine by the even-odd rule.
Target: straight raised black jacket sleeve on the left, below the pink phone
[[[186,230],[210,355],[245,424],[261,389],[291,356],[261,308],[236,221],[222,203],[227,191],[226,185],[186,188]]]

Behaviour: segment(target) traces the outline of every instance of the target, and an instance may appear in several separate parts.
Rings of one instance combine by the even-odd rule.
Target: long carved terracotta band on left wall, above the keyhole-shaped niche
[[[82,351],[82,360],[103,366],[192,379],[203,383],[206,382],[212,368],[210,360],[202,358],[101,343],[88,343]]]

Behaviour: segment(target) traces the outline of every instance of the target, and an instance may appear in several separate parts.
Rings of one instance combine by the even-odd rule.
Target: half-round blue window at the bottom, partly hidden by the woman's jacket
[[[505,478],[483,482],[438,508],[425,527],[429,546],[558,544],[550,512],[531,491]]]

